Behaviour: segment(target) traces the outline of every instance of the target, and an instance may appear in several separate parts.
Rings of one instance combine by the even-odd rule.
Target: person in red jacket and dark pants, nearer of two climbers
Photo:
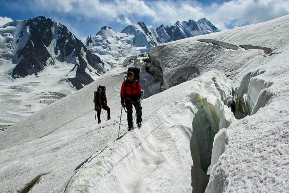
[[[134,80],[133,72],[127,72],[127,80],[122,82],[120,90],[121,105],[126,108],[128,131],[133,128],[132,105],[136,111],[137,126],[141,126],[140,83]]]

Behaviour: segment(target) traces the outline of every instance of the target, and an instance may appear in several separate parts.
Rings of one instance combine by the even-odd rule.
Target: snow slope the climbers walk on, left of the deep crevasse
[[[99,152],[101,152],[100,155],[89,164],[85,164],[85,167],[75,175],[69,191],[110,192],[119,188],[121,192],[142,191],[152,183],[151,177],[159,176],[166,170],[169,170],[168,175],[160,180],[167,181],[164,185],[172,191],[176,191],[178,187],[174,184],[181,183],[184,178],[189,179],[191,176],[190,168],[193,164],[190,156],[191,123],[193,115],[197,111],[192,102],[199,100],[199,98],[194,99],[193,93],[199,92],[204,97],[210,95],[211,101],[208,103],[223,106],[222,102],[217,99],[220,98],[220,93],[212,81],[212,76],[221,81],[225,79],[224,75],[219,72],[208,73],[207,77],[199,78],[204,81],[204,84],[198,85],[198,81],[186,82],[171,91],[168,90],[144,100],[142,103],[143,119],[146,122],[141,130],[135,129],[114,143],[112,141],[117,138],[119,125],[114,120],[96,125],[92,101],[81,99],[92,99],[93,88],[95,89],[97,84],[103,84],[109,80],[109,84],[106,84],[110,88],[107,93],[110,99],[108,103],[113,107],[112,118],[118,121],[120,114],[118,95],[123,74],[110,72],[109,75],[97,79],[77,93],[51,104],[1,135],[2,139],[5,138],[5,140],[1,140],[1,149],[3,149],[1,151],[1,178],[5,178],[1,185],[2,191],[5,192],[11,188],[13,191],[20,190],[34,177],[42,175],[40,183],[35,185],[31,192],[49,192],[52,189],[59,192],[63,190],[67,180],[73,175],[74,169],[87,158],[94,157]],[[204,87],[207,89],[205,90]],[[225,84],[224,89],[228,90],[228,88],[230,86]],[[162,103],[163,100],[166,103]],[[175,104],[172,106],[172,103]],[[71,107],[70,104],[75,105]],[[229,112],[228,109],[227,112]],[[63,116],[60,118],[59,114]],[[121,134],[126,130],[125,114],[122,116]],[[176,121],[179,125],[176,124]],[[19,132],[20,128],[27,128],[27,130],[22,133]],[[164,143],[164,138],[167,142],[171,142]],[[19,154],[19,151],[22,153]],[[152,154],[152,151],[155,152]],[[18,153],[14,154],[13,152]],[[172,155],[174,156],[171,157]],[[16,157],[11,160],[10,156]],[[126,156],[130,160],[128,165]],[[15,160],[18,161],[15,162]],[[140,166],[139,164],[142,166],[137,167]],[[118,168],[115,171],[116,174],[113,174],[114,177],[119,178],[118,175],[126,170],[127,177],[133,181],[130,182],[126,178],[124,182],[119,178],[117,184],[105,182],[114,177],[109,177],[110,174],[107,178],[100,176],[112,171],[111,167],[114,166]],[[15,174],[18,172],[13,171],[15,168],[23,171],[23,174],[18,174],[16,178]],[[180,173],[180,176],[176,177],[175,174],[179,170],[182,170],[182,174]],[[142,174],[147,176],[147,180],[142,181],[140,178],[136,180],[137,175],[142,176]],[[91,178],[95,179],[91,181]],[[86,183],[98,185],[89,188],[90,185],[87,186]],[[108,187],[105,185],[106,183],[112,183],[112,186]],[[123,183],[127,183],[127,187],[122,187]],[[158,181],[152,186],[152,189],[147,191],[158,191],[160,187],[157,184]],[[186,181],[184,185],[184,191],[191,190],[190,180]],[[44,189],[43,186],[47,188]],[[9,188],[6,189],[7,187]]]

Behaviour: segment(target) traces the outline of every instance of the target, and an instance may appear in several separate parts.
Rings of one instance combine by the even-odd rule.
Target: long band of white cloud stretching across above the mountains
[[[206,17],[219,29],[268,21],[289,14],[289,0],[231,0],[204,6],[188,0],[31,0],[22,8],[71,14],[77,22],[96,19],[120,24],[152,21],[151,25],[172,25],[177,20],[198,20]],[[102,23],[104,23],[102,22]]]

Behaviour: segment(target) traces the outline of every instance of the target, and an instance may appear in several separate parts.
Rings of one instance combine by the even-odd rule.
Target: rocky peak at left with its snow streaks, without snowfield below
[[[92,76],[99,76],[107,69],[100,58],[83,45],[64,25],[45,17],[10,22],[0,28],[0,35],[10,34],[6,42],[10,52],[2,54],[15,64],[14,78],[38,75],[58,62],[75,64],[66,77],[76,89],[91,83]]]

